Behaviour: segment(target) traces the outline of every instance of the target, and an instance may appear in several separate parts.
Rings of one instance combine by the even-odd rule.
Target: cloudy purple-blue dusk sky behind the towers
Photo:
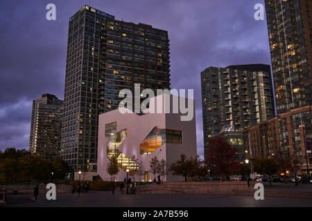
[[[56,20],[46,20],[46,5]],[[64,97],[69,18],[84,5],[117,20],[168,30],[171,87],[194,89],[198,155],[203,155],[200,72],[209,66],[270,64],[264,0],[0,1],[0,150],[28,149],[33,99]]]

